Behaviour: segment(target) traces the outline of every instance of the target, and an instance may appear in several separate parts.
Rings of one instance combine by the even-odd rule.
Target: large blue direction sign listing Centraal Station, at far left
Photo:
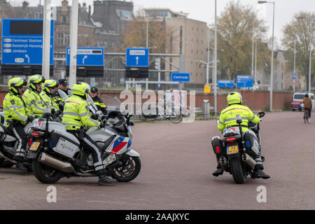
[[[50,25],[50,64],[54,55],[54,20]],[[43,64],[43,20],[2,20],[2,64]]]

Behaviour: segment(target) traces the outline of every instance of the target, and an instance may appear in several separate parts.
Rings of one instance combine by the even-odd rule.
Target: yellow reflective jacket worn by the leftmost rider
[[[9,120],[18,120],[22,125],[26,125],[27,116],[31,116],[22,97],[11,92],[6,94],[6,97],[3,99],[3,111],[7,121],[6,127],[9,126]]]

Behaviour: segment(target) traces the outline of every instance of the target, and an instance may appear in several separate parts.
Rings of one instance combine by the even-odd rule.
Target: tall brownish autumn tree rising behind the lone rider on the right
[[[252,39],[257,38],[258,69],[267,69],[269,49],[263,42],[266,27],[251,6],[230,1],[218,17],[218,70],[221,78],[235,79],[237,74],[251,74]]]

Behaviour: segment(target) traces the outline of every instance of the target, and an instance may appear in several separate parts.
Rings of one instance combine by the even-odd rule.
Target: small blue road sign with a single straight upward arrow
[[[148,67],[148,48],[126,48],[127,67]]]

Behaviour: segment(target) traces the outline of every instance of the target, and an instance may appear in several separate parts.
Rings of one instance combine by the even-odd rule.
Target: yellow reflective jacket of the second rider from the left
[[[27,89],[23,94],[23,99],[29,112],[43,116],[46,106],[38,92]]]

